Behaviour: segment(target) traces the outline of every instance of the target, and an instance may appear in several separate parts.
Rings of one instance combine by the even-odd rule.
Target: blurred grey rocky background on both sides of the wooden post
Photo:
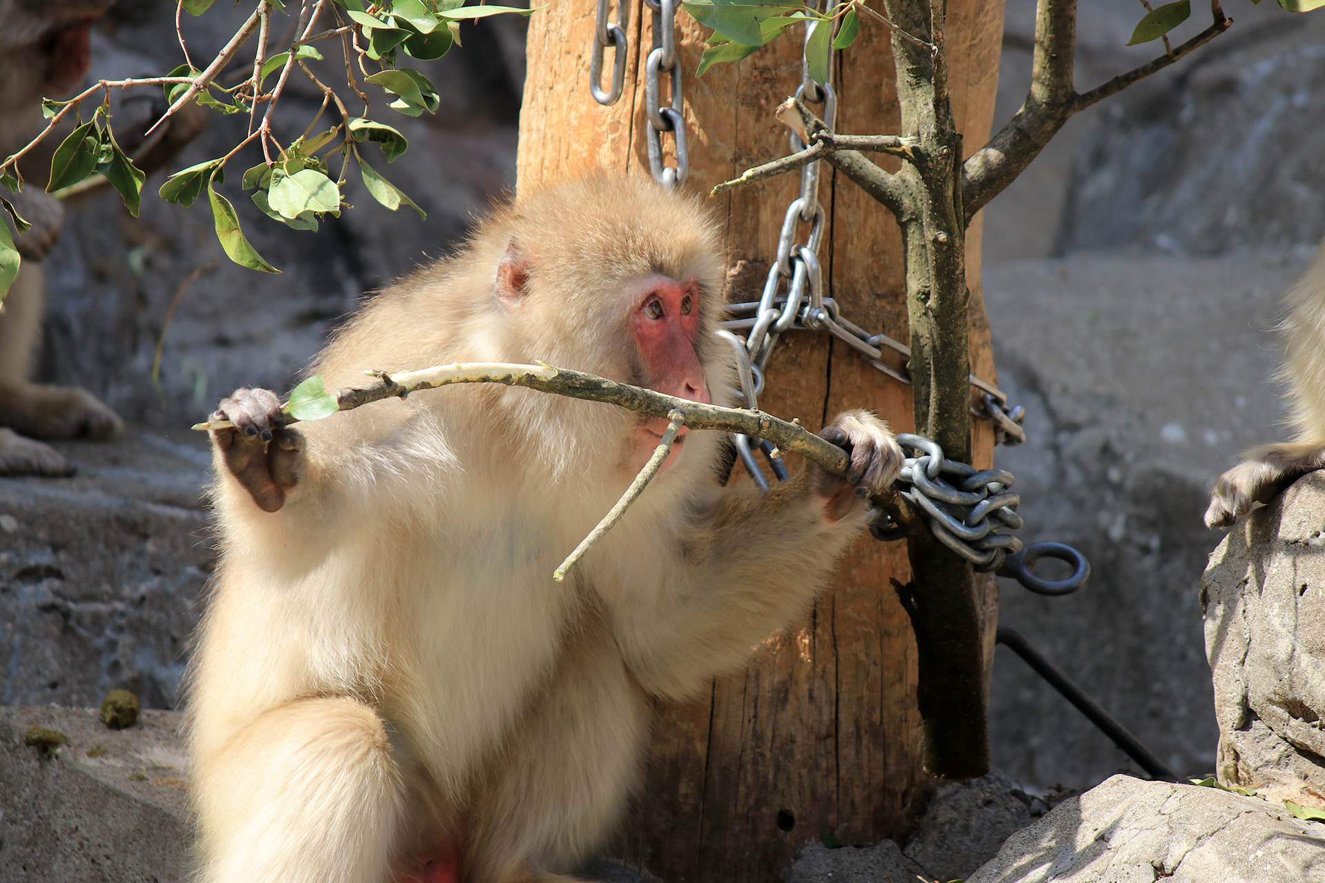
[[[162,4],[121,5],[130,12],[94,38],[94,75],[172,68]],[[238,12],[186,16],[196,53]],[[1200,527],[1203,496],[1242,447],[1283,434],[1271,328],[1325,232],[1325,15],[1244,0],[1228,13],[1236,24],[1214,45],[1071,122],[986,222],[1002,383],[1028,408],[1028,443],[999,463],[1019,477],[1026,537],[1073,543],[1094,564],[1067,598],[1003,580],[1002,622],[1179,773],[1215,767],[1196,582],[1219,536]],[[1153,57],[1154,45],[1124,46],[1138,17],[1130,3],[1083,0],[1079,87]],[[319,233],[294,233],[235,199],[285,270],[264,275],[224,258],[203,205],[144,199],[138,220],[114,193],[70,207],[46,262],[41,377],[87,387],[148,432],[64,446],[82,465],[73,482],[0,482],[0,703],[89,706],[119,686],[148,707],[174,703],[211,567],[205,454],[175,428],[236,385],[289,384],[363,291],[449,248],[513,184],[521,23],[465,25],[464,48],[431,62],[439,115],[390,118],[411,150],[375,165],[428,212],[423,224],[360,192]],[[1010,0],[999,119],[1024,95],[1032,24],[1032,0]],[[302,128],[319,99],[286,101],[281,124]],[[213,116],[174,168],[217,156],[240,124]],[[1003,650],[991,728],[995,765],[1026,792],[1129,767]]]

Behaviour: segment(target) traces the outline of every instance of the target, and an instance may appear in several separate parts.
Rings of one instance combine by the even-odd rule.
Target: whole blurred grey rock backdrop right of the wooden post
[[[1026,94],[1034,5],[1008,0],[998,118]],[[1124,45],[1133,4],[1080,9],[1079,90],[1153,57]],[[1243,449],[1285,437],[1272,330],[1325,233],[1325,16],[1226,11],[1212,44],[1069,122],[984,226],[995,360],[1030,436],[996,461],[1018,475],[1026,539],[1094,565],[1064,598],[1002,580],[1000,624],[1200,776],[1218,731],[1196,586],[1220,539],[1200,515]],[[1007,650],[991,739],[1027,790],[1134,769]]]

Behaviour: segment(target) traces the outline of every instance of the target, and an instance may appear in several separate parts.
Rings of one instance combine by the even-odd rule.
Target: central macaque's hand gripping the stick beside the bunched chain
[[[851,457],[847,478],[814,463],[808,467],[810,492],[824,500],[824,518],[836,524],[851,512],[857,498],[873,496],[892,485],[904,457],[888,424],[868,410],[837,414],[819,436]]]

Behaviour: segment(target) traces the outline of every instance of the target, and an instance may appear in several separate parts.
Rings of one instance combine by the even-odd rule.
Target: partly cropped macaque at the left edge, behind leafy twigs
[[[62,95],[82,81],[87,28],[110,4],[0,0],[0,152],[12,154],[33,134],[44,97]],[[11,199],[32,229],[15,241],[23,266],[0,310],[0,475],[69,475],[65,458],[36,438],[109,438],[123,424],[83,389],[28,381],[45,297],[40,261],[60,236],[64,208],[40,184]]]

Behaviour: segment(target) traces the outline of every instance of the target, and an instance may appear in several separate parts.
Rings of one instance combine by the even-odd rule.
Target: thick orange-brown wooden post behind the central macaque
[[[652,48],[649,11],[637,0],[631,8],[625,91],[611,107],[588,94],[594,11],[591,0],[553,0],[530,21],[522,191],[592,169],[648,175],[639,71]],[[705,29],[680,9],[677,25],[689,127],[685,189],[702,195],[788,151],[772,110],[800,81],[800,41],[778,40],[697,79]],[[967,150],[987,140],[1002,33],[1000,3],[949,1],[949,89]],[[863,19],[859,41],[841,56],[833,78],[837,131],[904,134],[888,30]],[[608,73],[612,61],[608,50]],[[897,168],[894,160],[882,164]],[[833,169],[825,167],[823,177],[827,291],[856,324],[908,340],[897,225]],[[787,175],[710,200],[727,222],[729,301],[758,299],[798,187],[799,177]],[[966,242],[971,369],[996,380],[979,290],[980,218]],[[913,428],[912,389],[820,332],[782,336],[759,405],[814,428],[859,406],[897,430]],[[988,466],[987,422],[977,421],[973,442],[975,463]],[[704,702],[659,703],[644,793],[616,851],[668,883],[765,883],[780,879],[796,851],[825,834],[841,843],[904,839],[933,789],[922,768],[916,642],[890,582],[908,576],[904,543],[863,536],[807,620],[770,635],[743,675],[719,679]],[[992,659],[996,584],[986,576],[978,585]]]

